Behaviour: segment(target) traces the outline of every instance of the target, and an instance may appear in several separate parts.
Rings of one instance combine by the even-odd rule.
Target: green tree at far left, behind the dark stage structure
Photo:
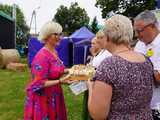
[[[17,5],[16,5],[17,6]],[[0,4],[0,10],[9,16],[12,16],[12,6]],[[26,24],[24,14],[16,7],[16,43],[25,45],[29,37],[29,27]]]

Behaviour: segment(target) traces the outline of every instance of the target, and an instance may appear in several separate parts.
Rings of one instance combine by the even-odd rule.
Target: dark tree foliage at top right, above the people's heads
[[[102,17],[111,11],[128,17],[135,17],[140,12],[155,9],[155,0],[97,0],[96,7],[101,8]]]

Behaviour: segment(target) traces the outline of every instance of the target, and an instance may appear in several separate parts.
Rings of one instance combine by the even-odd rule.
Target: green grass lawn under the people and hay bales
[[[26,62],[22,59],[22,62]],[[29,70],[14,72],[0,69],[0,120],[22,120],[25,86]],[[67,85],[63,85],[68,120],[82,120],[83,95],[75,96]]]

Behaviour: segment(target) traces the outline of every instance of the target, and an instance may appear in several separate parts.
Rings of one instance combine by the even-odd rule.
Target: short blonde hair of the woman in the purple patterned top
[[[123,15],[114,15],[105,22],[104,33],[115,44],[129,44],[133,39],[131,20]]]

